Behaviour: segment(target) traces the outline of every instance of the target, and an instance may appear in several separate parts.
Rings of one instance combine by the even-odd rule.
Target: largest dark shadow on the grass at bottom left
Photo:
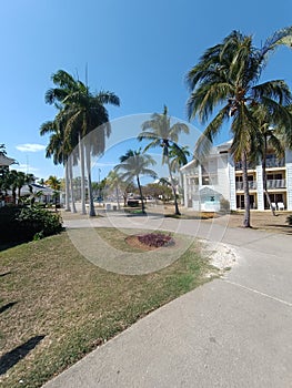
[[[10,368],[24,358],[46,336],[36,336],[27,343],[0,357],[0,375],[6,374]]]

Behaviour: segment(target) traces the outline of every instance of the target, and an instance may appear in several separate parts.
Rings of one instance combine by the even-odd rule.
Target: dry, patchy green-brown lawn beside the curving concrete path
[[[128,236],[100,229],[113,247]],[[174,235],[175,239],[175,235]],[[170,248],[170,247],[168,247]],[[199,243],[155,273],[130,276],[87,261],[66,232],[0,252],[1,387],[40,387],[139,318],[210,280]],[[217,276],[217,275],[214,275]]]

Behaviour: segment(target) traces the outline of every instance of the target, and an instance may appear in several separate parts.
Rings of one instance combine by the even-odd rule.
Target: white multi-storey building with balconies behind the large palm
[[[202,163],[193,160],[181,169],[184,205],[197,211],[217,212],[224,200],[230,210],[244,208],[241,163],[234,163],[230,154],[232,141],[212,147]],[[251,208],[269,208],[263,191],[262,165],[248,170]],[[268,191],[271,202],[280,208],[292,211],[292,151],[278,160],[270,150],[266,155]],[[281,207],[282,208],[282,207]]]

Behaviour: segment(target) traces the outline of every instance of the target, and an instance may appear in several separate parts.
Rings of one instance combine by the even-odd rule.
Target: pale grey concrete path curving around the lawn
[[[158,219],[130,223],[149,228]],[[159,223],[161,229],[230,244],[239,264],[139,320],[46,388],[291,388],[291,236],[195,221]],[[130,226],[119,216],[93,224]]]

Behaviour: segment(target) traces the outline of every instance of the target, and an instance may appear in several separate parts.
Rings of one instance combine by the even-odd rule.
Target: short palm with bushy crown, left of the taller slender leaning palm
[[[155,161],[148,154],[141,152],[141,149],[138,151],[128,150],[124,155],[120,157],[120,164],[118,164],[114,170],[120,172],[120,178],[122,181],[131,182],[133,178],[137,180],[141,204],[142,213],[145,213],[145,205],[143,200],[143,193],[140,182],[141,175],[149,175],[153,178],[157,177],[157,173],[149,169],[149,166],[154,165]]]

